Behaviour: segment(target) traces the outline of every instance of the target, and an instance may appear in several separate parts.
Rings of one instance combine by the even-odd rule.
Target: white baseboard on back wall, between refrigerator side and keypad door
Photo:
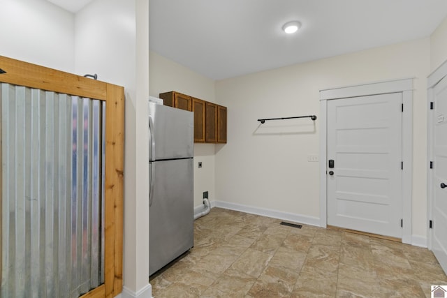
[[[213,201],[211,207],[221,207],[235,211],[242,211],[249,214],[256,214],[261,216],[268,216],[272,218],[282,219],[284,221],[293,221],[295,223],[303,223],[305,225],[320,226],[320,218],[313,216],[306,216],[302,214],[293,214],[283,211],[276,211],[272,209],[264,209],[259,207],[251,207],[242,204],[235,204],[230,202]]]

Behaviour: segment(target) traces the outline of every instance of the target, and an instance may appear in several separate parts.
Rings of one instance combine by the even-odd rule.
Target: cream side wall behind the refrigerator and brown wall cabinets
[[[159,97],[166,91],[178,91],[189,96],[215,102],[214,81],[193,72],[170,59],[149,52],[150,95]],[[203,192],[214,200],[214,144],[194,144],[194,207],[203,204]],[[203,167],[198,168],[198,162]]]

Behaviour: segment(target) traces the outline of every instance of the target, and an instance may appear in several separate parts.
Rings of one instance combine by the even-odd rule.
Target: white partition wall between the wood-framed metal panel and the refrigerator
[[[149,2],[96,0],[75,17],[78,73],[124,86],[124,295],[150,296],[149,165]]]

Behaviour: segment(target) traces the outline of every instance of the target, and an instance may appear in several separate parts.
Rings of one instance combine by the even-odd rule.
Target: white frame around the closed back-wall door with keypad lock
[[[404,113],[402,114],[402,161],[404,162],[402,171],[402,242],[411,244],[413,78],[320,90],[320,117],[318,117],[320,119],[320,225],[326,228],[328,223],[328,175],[326,174],[326,161],[328,161],[327,100],[388,93],[402,93],[402,103],[404,104]]]

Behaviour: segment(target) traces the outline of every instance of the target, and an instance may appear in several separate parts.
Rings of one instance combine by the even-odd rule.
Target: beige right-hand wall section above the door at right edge
[[[447,18],[430,36],[430,70],[438,68],[447,60]]]

